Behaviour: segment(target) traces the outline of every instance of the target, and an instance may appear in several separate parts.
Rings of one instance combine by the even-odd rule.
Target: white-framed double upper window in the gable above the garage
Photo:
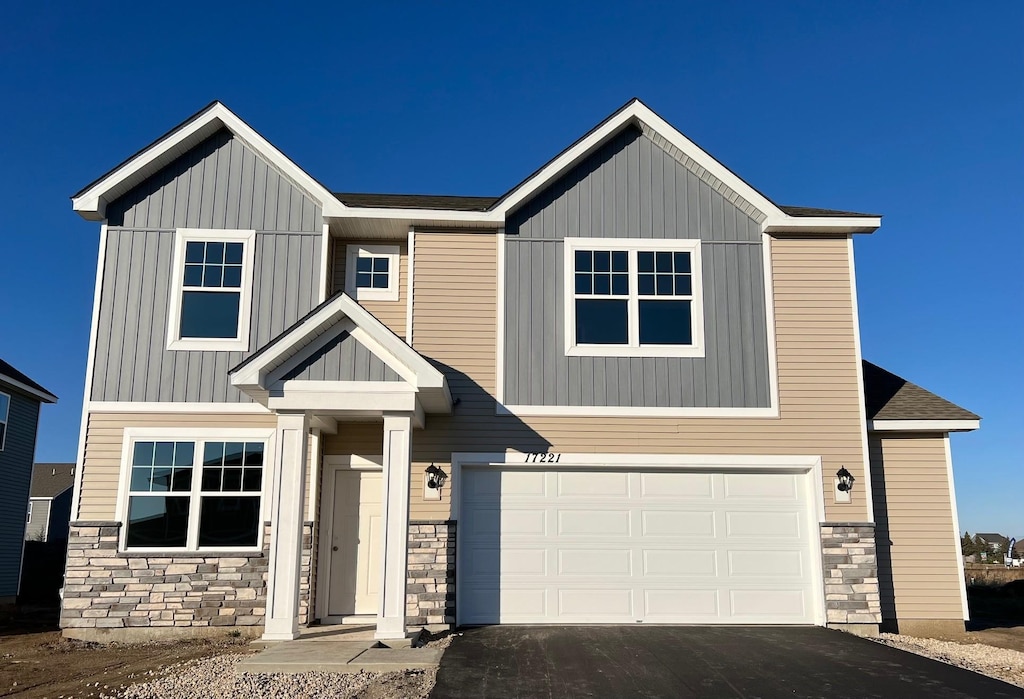
[[[703,356],[698,241],[565,238],[565,353]]]

